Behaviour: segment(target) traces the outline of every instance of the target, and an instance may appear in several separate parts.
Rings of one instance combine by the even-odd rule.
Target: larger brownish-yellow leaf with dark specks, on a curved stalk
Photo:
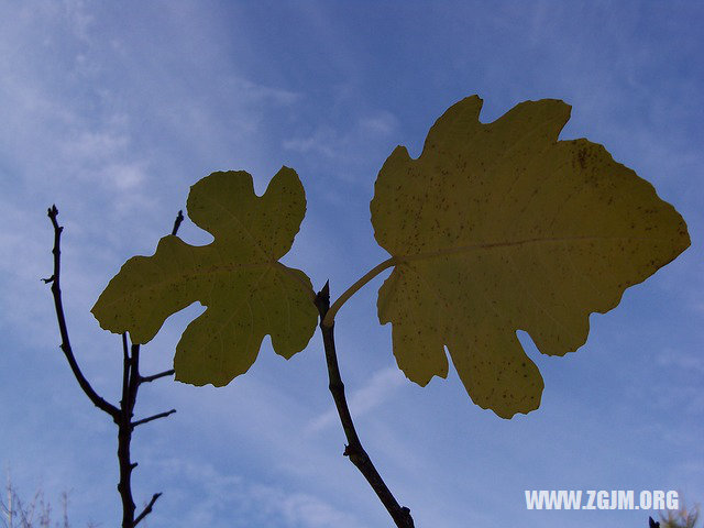
[[[516,338],[563,355],[588,315],[690,244],[653,187],[584,139],[557,141],[559,100],[520,103],[493,123],[469,97],[430,129],[422,154],[398,146],[376,180],[372,223],[396,261],[378,293],[394,354],[414,382],[447,376],[447,346],[470,397],[509,418],[540,405],[543,382]]]

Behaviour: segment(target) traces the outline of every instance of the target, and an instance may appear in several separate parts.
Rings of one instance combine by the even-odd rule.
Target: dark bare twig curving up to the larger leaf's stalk
[[[354,428],[352,416],[348,407],[346,397],[344,395],[344,384],[340,376],[340,367],[338,365],[338,355],[334,348],[334,321],[324,322],[326,314],[330,309],[330,285],[326,283],[324,287],[316,296],[316,306],[320,312],[320,330],[322,332],[322,342],[326,350],[326,362],[328,364],[329,388],[334,399],[334,405],[342,422],[344,436],[349,444],[344,448],[344,455],[364,475],[366,482],[370,483],[382,504],[386,507],[388,514],[394,519],[398,528],[414,528],[414,519],[410,516],[410,509],[400,506],[392,492],[384,483],[382,476],[374,468],[372,460],[362,447],[360,437]]]

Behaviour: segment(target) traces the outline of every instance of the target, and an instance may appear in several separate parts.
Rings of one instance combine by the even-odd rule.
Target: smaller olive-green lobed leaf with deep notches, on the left
[[[207,306],[174,359],[176,378],[194,385],[227,385],[246,372],[266,334],[286,359],[302,350],[317,323],[312,286],[278,262],[306,213],[296,172],[282,167],[262,197],[248,173],[213,173],[191,187],[187,208],[215,242],[164,237],[153,256],[130,258],[92,308],[100,326],[146,343],[172,314]]]

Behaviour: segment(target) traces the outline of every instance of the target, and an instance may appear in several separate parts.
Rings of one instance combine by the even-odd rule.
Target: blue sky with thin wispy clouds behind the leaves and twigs
[[[392,150],[479,94],[482,120],[517,102],[573,106],[561,138],[606,145],[690,227],[692,248],[612,312],[576,353],[541,356],[542,405],[482,410],[457,373],[404,378],[382,278],[340,312],[337,341],[365,448],[418,527],[647,526],[642,512],[527,512],[524,490],[680,490],[704,497],[701,241],[704,8],[698,2],[4,2],[0,7],[0,466],[25,496],[70,492],[74,526],[117,526],[116,430],[58,349],[48,288],[56,204],[74,349],[119,399],[119,337],[89,310],[120,265],[153,253],[188,188],[245,169],[261,194],[296,168],[308,210],[285,257],[340,294],[386,258],[369,221]],[[190,222],[191,243],[209,235]],[[385,275],[384,275],[385,276]],[[170,366],[191,306],[143,349]],[[391,526],[341,457],[320,336],[285,361],[268,338],[226,388],[146,386],[138,415],[176,407],[133,441],[145,526]]]

